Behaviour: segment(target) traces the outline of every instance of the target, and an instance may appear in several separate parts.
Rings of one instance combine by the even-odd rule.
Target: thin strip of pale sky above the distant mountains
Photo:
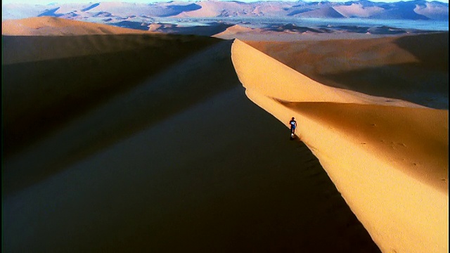
[[[154,2],[158,2],[158,1],[162,1],[162,2],[167,2],[164,0],[100,0],[100,1],[92,1],[92,0],[4,0],[1,1],[1,4],[51,4],[51,3],[58,3],[58,4],[68,4],[68,3],[80,3],[80,4],[84,4],[84,3],[98,3],[98,2],[127,2],[127,3],[142,3],[142,4],[149,4],[149,3],[154,3]],[[188,1],[188,0],[176,0],[176,1]],[[195,0],[194,0],[195,1]],[[226,0],[222,0],[222,1],[226,1]],[[243,2],[250,2],[250,1],[257,1],[257,0],[239,0],[239,1],[243,1]],[[286,0],[286,1],[290,1],[290,0]],[[292,0],[292,1],[297,1],[297,0]],[[321,0],[305,0],[305,1],[321,1]],[[351,1],[351,0],[328,0],[328,1],[333,1],[333,2],[342,2],[342,1]],[[371,0],[371,1],[376,1],[376,2],[395,2],[395,1],[399,1],[399,0]],[[403,1],[413,1],[413,0],[403,0]],[[440,2],[449,3],[449,0],[440,0]]]

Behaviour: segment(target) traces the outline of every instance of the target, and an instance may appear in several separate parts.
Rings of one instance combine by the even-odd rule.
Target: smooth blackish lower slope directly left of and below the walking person
[[[6,197],[6,249],[380,252],[314,155],[235,84]]]

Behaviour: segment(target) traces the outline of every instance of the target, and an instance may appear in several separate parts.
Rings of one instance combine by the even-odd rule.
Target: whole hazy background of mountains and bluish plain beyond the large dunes
[[[79,20],[95,24],[113,25],[132,30],[171,34],[195,34],[212,36],[224,32],[227,27],[240,25],[266,30],[268,33],[358,33],[409,34],[430,31],[448,31],[449,6],[438,1],[401,1],[383,4],[371,1],[354,2],[304,2],[293,1],[170,1],[153,4],[122,2],[98,2],[91,4],[4,4],[2,21],[25,18],[53,17],[63,20]],[[298,18],[305,22],[299,23]],[[278,20],[278,24],[271,24]],[[325,23],[324,20],[327,20]],[[359,22],[355,23],[356,20]],[[393,20],[396,20],[395,22]],[[412,22],[422,20],[423,22]],[[25,22],[25,21],[20,21]],[[59,21],[63,22],[63,21]],[[8,25],[18,22],[6,22]],[[63,22],[64,23],[64,22]],[[407,25],[406,25],[407,24]],[[40,24],[33,30],[26,24],[3,29],[3,34],[21,34],[29,30],[39,34],[99,34],[113,32],[108,27],[86,27],[72,31],[53,29]],[[61,24],[63,25],[63,24]],[[155,27],[161,25],[160,27]],[[273,27],[277,25],[279,27]],[[57,25],[60,27],[60,25]],[[74,25],[75,26],[75,25]],[[293,27],[295,26],[295,27]],[[280,30],[281,29],[281,30]],[[122,31],[124,33],[125,31]],[[130,31],[131,32],[131,31]],[[137,32],[137,31],[134,31]],[[134,33],[133,32],[133,33]],[[113,32],[115,33],[115,32]],[[129,33],[129,32],[127,32]],[[255,32],[252,32],[256,36]],[[222,34],[224,35],[224,34]],[[264,37],[255,37],[256,40]]]

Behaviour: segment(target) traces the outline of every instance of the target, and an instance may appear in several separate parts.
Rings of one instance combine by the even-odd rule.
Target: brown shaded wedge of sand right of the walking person
[[[402,108],[383,105],[340,103],[283,103],[287,108],[315,119],[360,145],[371,146],[371,153],[401,164],[420,181],[444,193],[449,188],[448,110]],[[390,155],[386,155],[390,152]],[[427,162],[419,162],[427,161]],[[442,169],[444,168],[444,169]]]

